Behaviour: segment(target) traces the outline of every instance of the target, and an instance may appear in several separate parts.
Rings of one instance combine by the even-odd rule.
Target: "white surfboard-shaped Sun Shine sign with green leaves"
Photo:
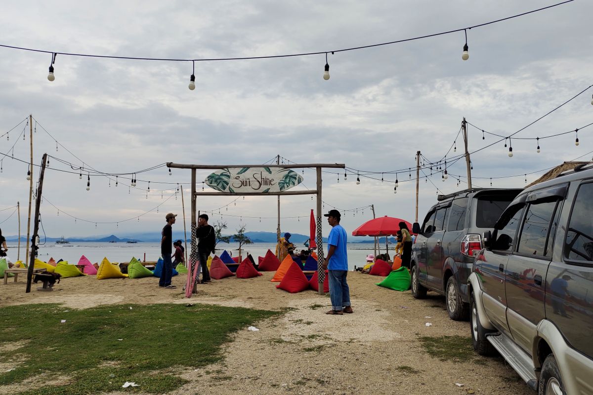
[[[228,193],[284,192],[301,184],[302,176],[281,167],[224,168],[208,175],[208,187]]]

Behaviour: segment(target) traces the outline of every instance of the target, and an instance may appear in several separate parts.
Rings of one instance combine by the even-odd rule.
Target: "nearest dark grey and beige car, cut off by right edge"
[[[539,394],[593,394],[593,163],[521,192],[468,279],[471,339]]]

